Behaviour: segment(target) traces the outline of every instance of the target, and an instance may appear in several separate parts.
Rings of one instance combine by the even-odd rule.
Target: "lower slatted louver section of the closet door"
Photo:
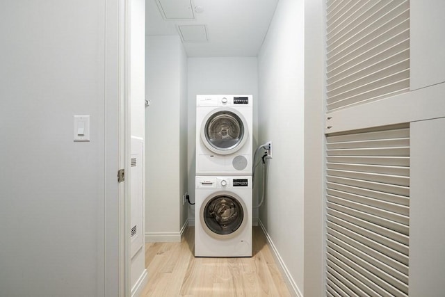
[[[407,296],[410,129],[327,136],[327,296]]]

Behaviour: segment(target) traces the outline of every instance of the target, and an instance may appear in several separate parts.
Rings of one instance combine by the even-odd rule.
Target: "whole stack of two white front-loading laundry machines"
[[[197,95],[195,257],[252,256],[252,95]]]

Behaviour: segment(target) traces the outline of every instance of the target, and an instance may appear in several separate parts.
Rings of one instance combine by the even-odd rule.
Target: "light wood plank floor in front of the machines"
[[[193,256],[195,229],[181,243],[147,243],[148,284],[141,296],[291,296],[260,227],[253,229],[253,257]]]

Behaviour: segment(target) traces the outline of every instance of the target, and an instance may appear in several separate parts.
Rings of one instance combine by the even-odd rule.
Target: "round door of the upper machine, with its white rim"
[[[216,154],[232,154],[241,149],[247,139],[248,125],[235,109],[214,109],[202,122],[202,143]]]

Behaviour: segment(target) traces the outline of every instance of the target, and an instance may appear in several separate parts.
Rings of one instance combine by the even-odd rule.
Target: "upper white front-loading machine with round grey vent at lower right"
[[[196,96],[196,175],[252,175],[252,95]]]

